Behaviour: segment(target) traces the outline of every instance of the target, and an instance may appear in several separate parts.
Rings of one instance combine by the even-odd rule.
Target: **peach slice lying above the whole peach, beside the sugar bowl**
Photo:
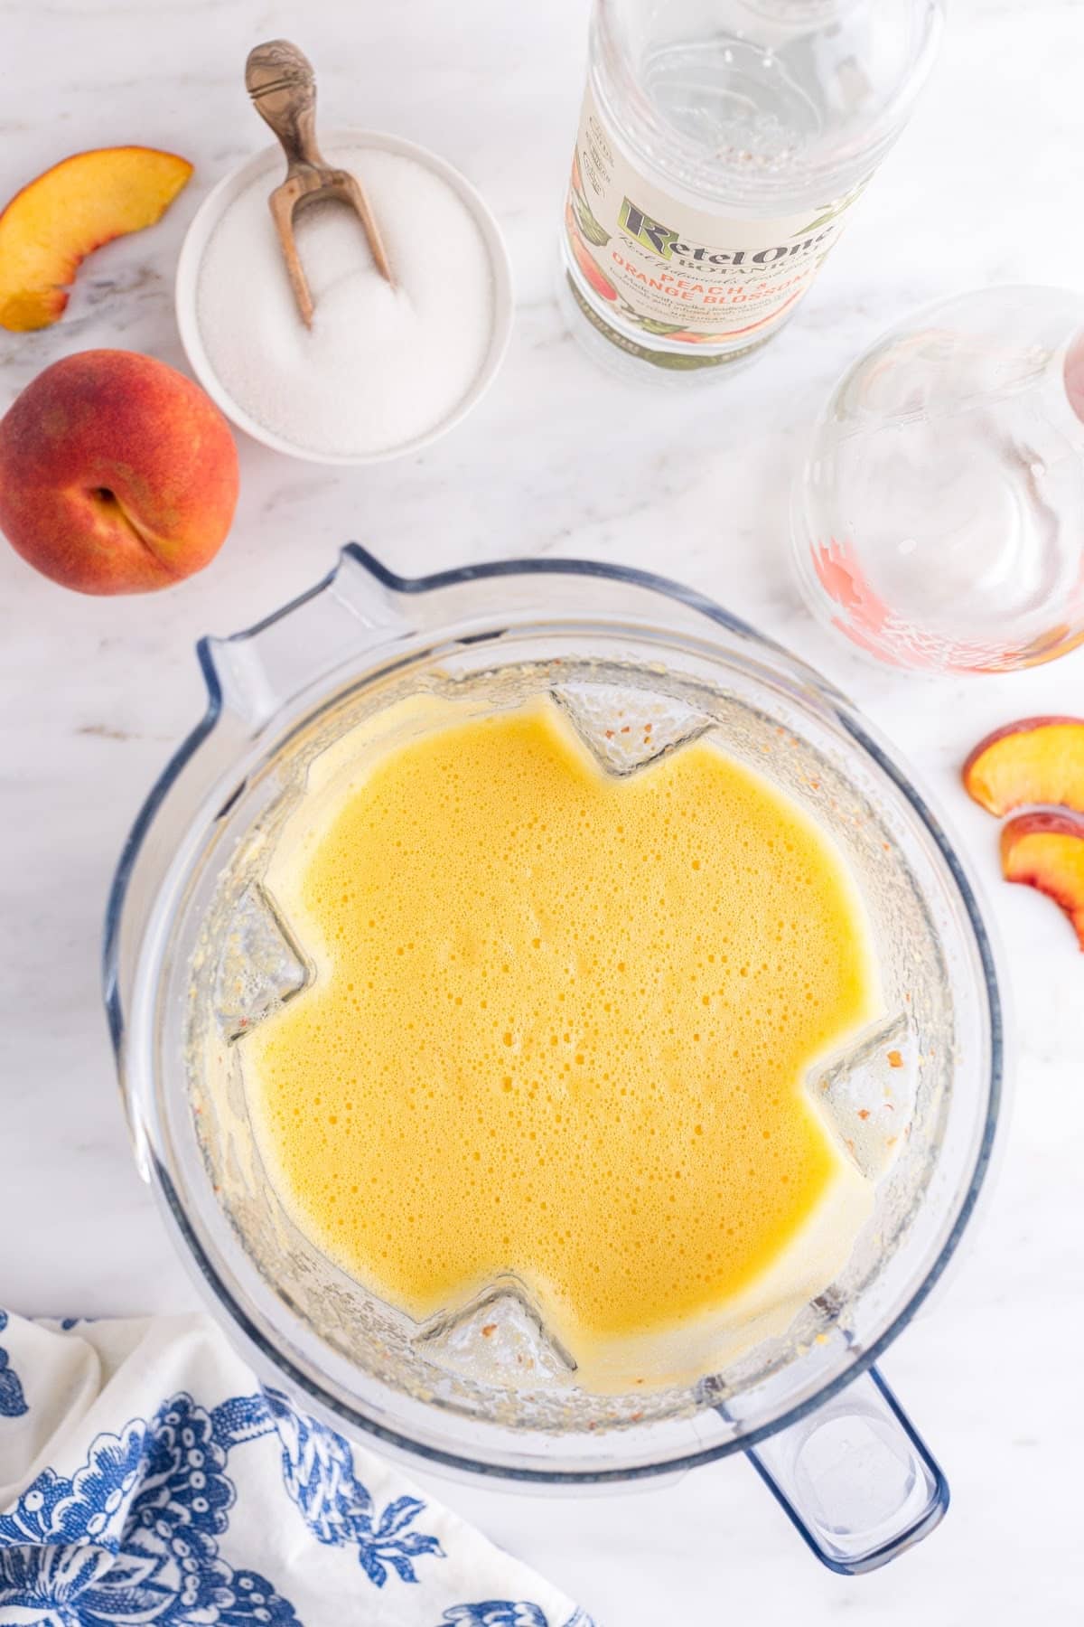
[[[153,226],[192,174],[151,146],[75,153],[16,192],[0,213],[0,327],[49,327],[80,262],[102,242]]]

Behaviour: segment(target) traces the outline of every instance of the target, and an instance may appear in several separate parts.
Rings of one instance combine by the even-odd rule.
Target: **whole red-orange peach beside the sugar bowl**
[[[218,553],[237,504],[226,420],[182,373],[83,350],[0,420],[0,530],[81,594],[169,587]]]

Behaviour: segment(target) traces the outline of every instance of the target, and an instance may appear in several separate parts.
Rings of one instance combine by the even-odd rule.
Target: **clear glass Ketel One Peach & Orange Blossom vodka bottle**
[[[562,233],[580,337],[699,371],[777,334],[941,20],[943,0],[595,0]]]

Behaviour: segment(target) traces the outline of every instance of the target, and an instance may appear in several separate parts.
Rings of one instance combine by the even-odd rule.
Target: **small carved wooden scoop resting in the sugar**
[[[348,203],[366,229],[380,277],[395,286],[369,198],[354,176],[346,169],[333,169],[317,146],[317,80],[304,50],[288,39],[268,39],[263,46],[254,46],[245,63],[245,86],[257,112],[275,130],[286,153],[286,179],[275,187],[268,203],[306,327],[312,327],[312,294],[294,242],[294,212],[306,203],[319,198]]]

